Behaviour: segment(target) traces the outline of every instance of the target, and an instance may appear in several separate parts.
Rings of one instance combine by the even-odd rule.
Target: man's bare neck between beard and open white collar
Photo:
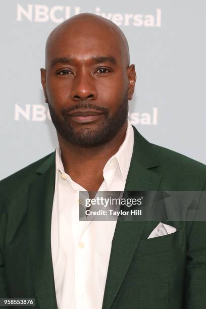
[[[65,172],[77,183],[83,184],[86,181],[88,188],[96,189],[103,181],[103,169],[107,161],[115,155],[125,139],[127,121],[124,123],[116,136],[96,147],[79,147],[66,142],[58,133],[58,140],[61,149],[62,163]],[[85,177],[86,175],[86,177]],[[91,185],[89,185],[91,183]],[[96,184],[96,185],[94,185]],[[84,187],[85,183],[84,183]]]

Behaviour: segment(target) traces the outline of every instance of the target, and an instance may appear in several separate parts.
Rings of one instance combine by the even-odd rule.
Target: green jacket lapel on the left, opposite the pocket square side
[[[28,194],[28,248],[37,301],[41,309],[57,309],[50,228],[55,190],[55,152],[37,170]]]

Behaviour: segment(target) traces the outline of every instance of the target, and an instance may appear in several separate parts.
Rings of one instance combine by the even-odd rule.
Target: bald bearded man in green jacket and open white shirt
[[[41,82],[55,152],[1,181],[0,297],[40,309],[206,307],[206,226],[79,222],[79,190],[203,191],[206,168],[127,121],[135,68],[122,31],[80,14],[46,43]],[[161,223],[164,224],[164,223]]]

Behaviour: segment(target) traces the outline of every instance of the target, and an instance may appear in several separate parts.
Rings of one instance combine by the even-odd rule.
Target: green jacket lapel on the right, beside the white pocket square
[[[134,128],[134,148],[125,191],[158,190],[161,175],[150,170],[158,165],[158,161],[153,155],[152,145]],[[102,309],[109,309],[112,306],[130,266],[145,224],[146,222],[143,221],[126,222],[122,221],[121,217],[118,218],[112,241]]]

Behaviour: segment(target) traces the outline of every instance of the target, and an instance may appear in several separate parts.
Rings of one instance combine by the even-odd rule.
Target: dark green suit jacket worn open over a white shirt
[[[149,143],[134,129],[125,190],[204,191],[205,183],[204,165]],[[0,182],[0,298],[35,298],[35,308],[57,309],[54,188],[55,152]],[[206,308],[205,222],[170,221],[175,233],[147,239],[157,224],[118,220],[103,309]]]

